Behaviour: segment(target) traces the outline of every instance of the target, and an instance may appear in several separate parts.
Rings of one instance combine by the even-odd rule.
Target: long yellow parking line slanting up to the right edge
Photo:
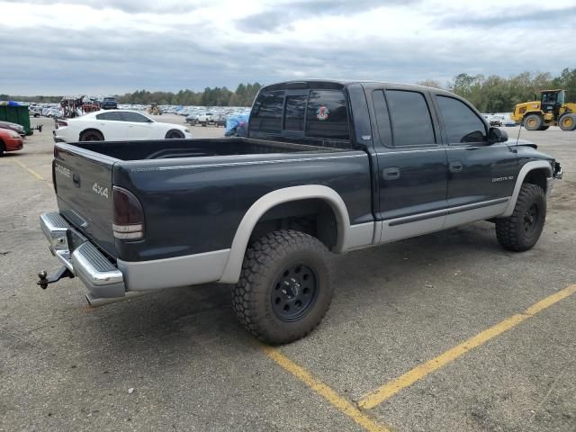
[[[519,313],[518,315],[514,315],[507,320],[503,320],[490,329],[485,329],[473,338],[469,338],[462,344],[449,349],[446,351],[446,353],[441,354],[432,360],[428,360],[428,362],[422,365],[416,366],[410,372],[401,375],[389,383],[383,384],[383,386],[362,398],[358,402],[358,405],[360,408],[365,410],[374,408],[375,406],[381,404],[383,401],[391,398],[397,392],[400,392],[402,389],[409,387],[428,374],[431,374],[437,369],[440,369],[441,367],[444,367],[455,361],[456,358],[464,356],[464,354],[473,348],[480,347],[482,344],[488,342],[491,338],[497,337],[498,335],[504,333],[506,330],[515,328],[521,322],[535,316],[538,312],[544,311],[554,303],[560,302],[573,293],[576,293],[576,285],[571,285],[567,288],[564,288],[562,291],[559,291],[558,293],[554,293],[546,297],[544,300],[541,300],[535,305],[530,306],[526,311]]]

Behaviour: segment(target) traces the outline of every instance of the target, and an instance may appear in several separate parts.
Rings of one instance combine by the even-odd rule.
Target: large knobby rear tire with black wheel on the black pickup
[[[333,275],[329,250],[320,240],[300,231],[277,230],[248,247],[232,305],[238,320],[258,339],[272,345],[287,344],[320,324],[334,295]],[[296,279],[302,316],[288,320],[284,314],[289,311],[284,308],[293,307],[293,313],[299,313],[298,300],[290,303],[284,284],[290,284],[287,280],[296,284]],[[307,290],[309,298],[304,297]]]

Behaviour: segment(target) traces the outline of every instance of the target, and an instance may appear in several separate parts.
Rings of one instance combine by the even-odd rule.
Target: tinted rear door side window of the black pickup
[[[436,144],[432,118],[424,94],[386,90],[394,147]]]

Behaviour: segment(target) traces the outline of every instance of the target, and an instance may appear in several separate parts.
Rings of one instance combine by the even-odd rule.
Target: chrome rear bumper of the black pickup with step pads
[[[121,271],[92,243],[85,241],[70,254],[67,231],[82,236],[57,211],[41,214],[40,227],[48,238],[52,255],[85,284],[93,299],[124,300],[126,287]]]

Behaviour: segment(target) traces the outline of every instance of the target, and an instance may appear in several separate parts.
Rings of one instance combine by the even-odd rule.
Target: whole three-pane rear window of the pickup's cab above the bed
[[[250,116],[250,130],[350,139],[346,97],[340,90],[261,92]]]

